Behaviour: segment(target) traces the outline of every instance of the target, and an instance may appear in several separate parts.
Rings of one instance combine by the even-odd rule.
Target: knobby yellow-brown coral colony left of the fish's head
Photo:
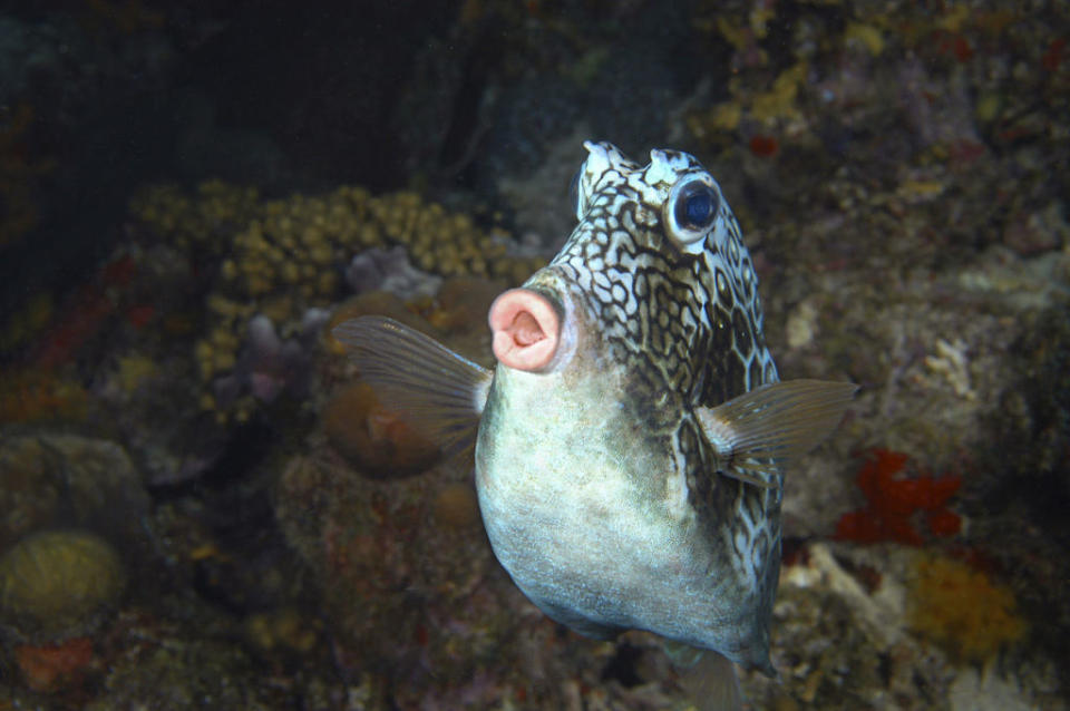
[[[312,335],[322,324],[318,314],[343,295],[339,275],[347,263],[358,293],[418,279],[409,262],[445,276],[513,283],[543,263],[512,256],[507,234],[486,233],[467,215],[407,192],[373,197],[343,186],[323,196],[257,202],[253,191],[210,182],[193,196],[152,188],[130,212],[139,231],[192,256],[220,260],[207,285],[206,335],[195,354],[202,407],[221,420],[245,420],[257,400],[274,400],[283,389],[303,392]],[[388,246],[395,250],[368,252]]]

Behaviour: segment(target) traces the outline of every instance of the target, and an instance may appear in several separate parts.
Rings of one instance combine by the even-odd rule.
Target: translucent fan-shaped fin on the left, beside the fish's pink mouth
[[[494,374],[435,339],[386,316],[360,316],[332,330],[376,390],[442,451],[475,445]]]

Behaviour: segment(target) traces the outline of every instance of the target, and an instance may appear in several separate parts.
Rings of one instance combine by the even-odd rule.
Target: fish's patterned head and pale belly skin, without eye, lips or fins
[[[718,476],[694,417],[777,380],[752,262],[693,157],[654,150],[640,166],[586,147],[580,224],[525,284],[576,324],[575,363],[560,381],[496,372],[476,450],[492,544],[536,604],[581,631],[652,630],[769,671],[779,481]],[[681,244],[665,205],[690,181],[713,188],[717,214]],[[538,412],[554,417],[533,423]]]

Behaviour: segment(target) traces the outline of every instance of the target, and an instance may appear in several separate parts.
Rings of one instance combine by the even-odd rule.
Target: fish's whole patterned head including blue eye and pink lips
[[[490,309],[499,367],[623,368],[714,405],[775,380],[753,264],[717,181],[687,153],[652,150],[640,165],[611,144],[584,146],[578,224]]]

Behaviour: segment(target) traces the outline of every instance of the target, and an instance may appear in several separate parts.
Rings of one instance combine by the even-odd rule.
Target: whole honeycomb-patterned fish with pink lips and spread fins
[[[333,333],[385,403],[475,455],[490,545],[523,593],[573,630],[646,630],[775,674],[785,471],[856,387],[779,382],[753,262],[691,155],[639,165],[584,144],[578,224],[488,315],[494,371],[396,321]]]

